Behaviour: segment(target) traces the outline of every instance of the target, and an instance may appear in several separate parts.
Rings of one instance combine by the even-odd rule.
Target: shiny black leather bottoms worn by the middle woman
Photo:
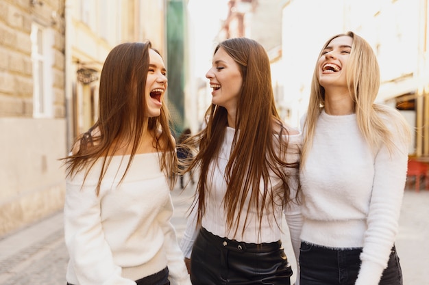
[[[201,228],[193,245],[193,285],[290,285],[291,275],[281,241],[241,243]]]

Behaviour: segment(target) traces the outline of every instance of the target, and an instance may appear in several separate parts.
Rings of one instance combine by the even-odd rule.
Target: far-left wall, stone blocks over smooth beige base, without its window
[[[66,153],[63,0],[0,0],[0,235],[62,208]],[[51,113],[34,118],[32,23],[49,30]]]

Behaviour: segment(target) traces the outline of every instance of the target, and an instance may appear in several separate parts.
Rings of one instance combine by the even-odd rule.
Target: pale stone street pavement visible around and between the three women
[[[186,226],[186,210],[193,187],[173,190],[177,239]],[[285,232],[286,254],[296,262]],[[429,285],[429,191],[407,190],[400,217],[396,247],[404,273],[404,285]],[[0,237],[1,285],[65,285],[68,254],[64,245],[62,213],[56,213],[13,234]],[[293,280],[295,277],[293,277]]]

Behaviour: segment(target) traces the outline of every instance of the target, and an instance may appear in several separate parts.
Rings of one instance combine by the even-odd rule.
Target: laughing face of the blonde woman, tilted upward
[[[339,36],[334,38],[323,49],[319,58],[319,84],[328,90],[331,87],[345,87],[346,81],[346,66],[347,61],[352,51],[353,39],[350,36]]]

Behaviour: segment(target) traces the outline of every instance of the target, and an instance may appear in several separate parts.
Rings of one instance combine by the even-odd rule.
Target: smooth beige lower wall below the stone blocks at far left
[[[60,210],[64,119],[0,118],[0,235]]]

